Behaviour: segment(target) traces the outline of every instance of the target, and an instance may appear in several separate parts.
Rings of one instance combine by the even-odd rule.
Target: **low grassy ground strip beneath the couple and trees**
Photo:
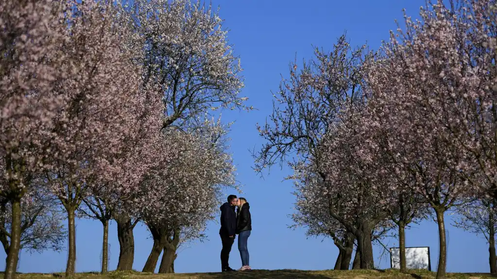
[[[2,275],[1,275],[2,276]],[[64,278],[64,274],[19,274],[18,279],[49,279]],[[191,274],[173,274],[159,275],[139,272],[110,272],[103,276],[98,273],[79,273],[76,279],[330,279],[330,278],[348,278],[348,279],[367,279],[367,278],[435,278],[435,273],[426,271],[410,271],[409,274],[401,274],[394,270],[385,271],[301,271],[301,270],[252,270],[232,273],[191,273]],[[490,274],[448,274],[448,278],[493,278]]]

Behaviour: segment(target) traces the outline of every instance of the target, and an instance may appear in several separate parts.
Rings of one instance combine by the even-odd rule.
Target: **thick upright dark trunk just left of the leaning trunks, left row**
[[[117,270],[131,271],[135,259],[135,238],[133,236],[133,223],[131,218],[116,217],[117,239],[119,240],[119,262]]]

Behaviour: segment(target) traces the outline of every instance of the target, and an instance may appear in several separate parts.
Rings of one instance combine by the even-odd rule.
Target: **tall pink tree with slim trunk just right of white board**
[[[459,4],[461,8],[429,3],[421,9],[422,21],[413,22],[406,16],[406,31],[399,28],[397,34],[392,33],[383,48],[385,59],[368,75],[377,119],[395,135],[389,148],[398,154],[403,170],[414,176],[414,190],[436,213],[440,239],[437,278],[445,278],[445,212],[468,195],[469,185],[476,187],[476,192],[492,185],[491,180],[479,185],[473,182],[481,173],[490,178],[491,171],[482,167],[487,164],[476,163],[480,155],[475,157],[475,152],[485,153],[478,149],[483,146],[478,141],[487,139],[475,133],[478,121],[468,113],[486,98],[472,96],[485,92],[479,81],[487,77],[479,74],[490,67],[478,64],[481,57],[474,56],[480,52],[473,52],[473,46],[484,37],[479,34],[478,22],[491,3]],[[475,87],[480,85],[482,90]],[[491,191],[487,189],[487,193]]]

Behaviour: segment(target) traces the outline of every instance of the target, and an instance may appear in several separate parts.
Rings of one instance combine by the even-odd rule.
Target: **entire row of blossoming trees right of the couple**
[[[371,269],[371,231],[393,223],[405,272],[405,228],[432,213],[445,278],[444,217],[457,209],[456,225],[487,235],[497,272],[496,16],[493,0],[428,2],[376,53],[341,37],[300,73],[291,65],[254,155],[257,170],[295,158],[297,224],[342,244],[353,235]]]

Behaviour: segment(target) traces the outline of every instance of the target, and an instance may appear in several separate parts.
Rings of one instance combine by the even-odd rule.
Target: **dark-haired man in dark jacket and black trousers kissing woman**
[[[222,272],[234,271],[228,263],[230,259],[231,246],[235,242],[235,232],[237,228],[237,213],[235,206],[238,203],[238,198],[235,195],[228,196],[228,202],[224,203],[221,209],[221,228],[219,235],[223,243],[221,250],[221,270]]]

